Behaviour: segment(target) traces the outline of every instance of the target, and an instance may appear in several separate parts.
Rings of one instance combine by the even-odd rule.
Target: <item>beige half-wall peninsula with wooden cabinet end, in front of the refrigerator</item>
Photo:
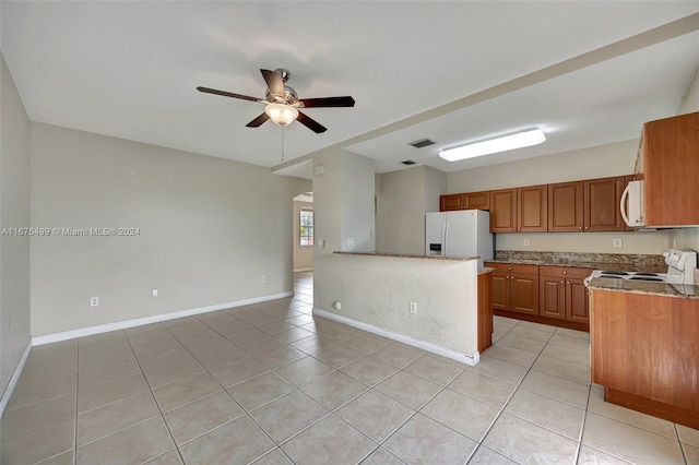
[[[477,257],[334,252],[315,267],[335,277],[316,289],[315,314],[467,365],[490,344],[491,270]]]

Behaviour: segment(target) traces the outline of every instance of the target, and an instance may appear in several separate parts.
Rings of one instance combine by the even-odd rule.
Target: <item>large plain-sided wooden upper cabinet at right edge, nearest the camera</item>
[[[640,151],[645,225],[699,225],[699,111],[647,122]]]

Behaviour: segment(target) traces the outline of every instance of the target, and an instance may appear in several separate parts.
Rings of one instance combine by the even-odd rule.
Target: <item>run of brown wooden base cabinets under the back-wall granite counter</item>
[[[493,273],[493,310],[501,317],[589,331],[592,269],[486,262]]]

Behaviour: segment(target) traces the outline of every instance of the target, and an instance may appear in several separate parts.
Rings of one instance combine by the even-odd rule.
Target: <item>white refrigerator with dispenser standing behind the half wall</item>
[[[431,257],[479,257],[493,259],[490,212],[459,210],[425,214],[425,254]]]

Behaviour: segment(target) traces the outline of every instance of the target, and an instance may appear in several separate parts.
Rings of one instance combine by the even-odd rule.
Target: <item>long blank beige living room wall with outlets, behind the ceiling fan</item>
[[[293,289],[292,199],[308,181],[40,123],[31,142],[34,227],[140,229],[32,239],[34,336]]]

